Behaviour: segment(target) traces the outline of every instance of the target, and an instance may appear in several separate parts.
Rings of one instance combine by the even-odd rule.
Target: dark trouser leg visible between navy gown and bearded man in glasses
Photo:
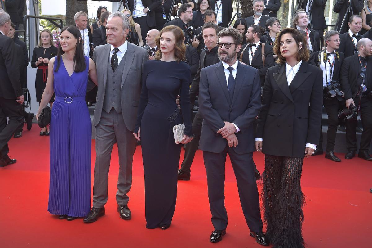
[[[192,161],[194,160],[195,152],[198,150],[200,134],[202,133],[203,117],[198,111],[192,122],[192,133],[194,134],[194,139],[186,144],[185,156],[181,164],[181,171],[190,173],[190,167]]]

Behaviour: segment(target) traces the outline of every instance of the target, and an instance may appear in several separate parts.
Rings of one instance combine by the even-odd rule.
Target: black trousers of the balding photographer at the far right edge
[[[359,96],[354,98],[355,106],[359,105]],[[360,151],[368,152],[372,139],[372,99],[363,96],[360,101],[360,118],[362,119],[363,132],[360,137]],[[357,121],[354,119],[347,120],[346,127],[346,146],[347,150],[356,151],[356,127]]]

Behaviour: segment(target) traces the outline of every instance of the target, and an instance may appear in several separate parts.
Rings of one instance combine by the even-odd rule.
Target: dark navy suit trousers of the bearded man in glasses
[[[209,207],[212,224],[215,229],[227,227],[225,208],[225,162],[227,154],[234,169],[238,192],[244,217],[252,232],[262,231],[259,194],[254,177],[253,153],[238,154],[226,146],[221,153],[203,151],[204,165],[207,172]]]

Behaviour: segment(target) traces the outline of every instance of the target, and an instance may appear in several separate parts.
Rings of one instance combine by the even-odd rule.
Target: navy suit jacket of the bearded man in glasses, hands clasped
[[[199,111],[203,117],[199,149],[220,153],[227,140],[217,131],[228,121],[240,129],[234,151],[239,154],[254,152],[253,122],[260,110],[260,76],[253,67],[238,63],[234,96],[230,99],[222,62],[201,70]]]

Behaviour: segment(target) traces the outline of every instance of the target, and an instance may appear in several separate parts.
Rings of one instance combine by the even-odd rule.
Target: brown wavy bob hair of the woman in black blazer
[[[309,50],[307,49],[307,41],[305,37],[300,34],[300,32],[295,28],[285,28],[282,31],[280,31],[275,38],[274,41],[274,54],[278,56],[276,59],[277,64],[283,64],[285,63],[285,58],[282,56],[282,53],[280,53],[280,39],[282,38],[283,34],[291,34],[293,39],[296,42],[297,48],[299,49],[299,42],[302,42],[301,49],[298,50],[297,53],[297,60],[305,60],[308,61],[310,58]]]

